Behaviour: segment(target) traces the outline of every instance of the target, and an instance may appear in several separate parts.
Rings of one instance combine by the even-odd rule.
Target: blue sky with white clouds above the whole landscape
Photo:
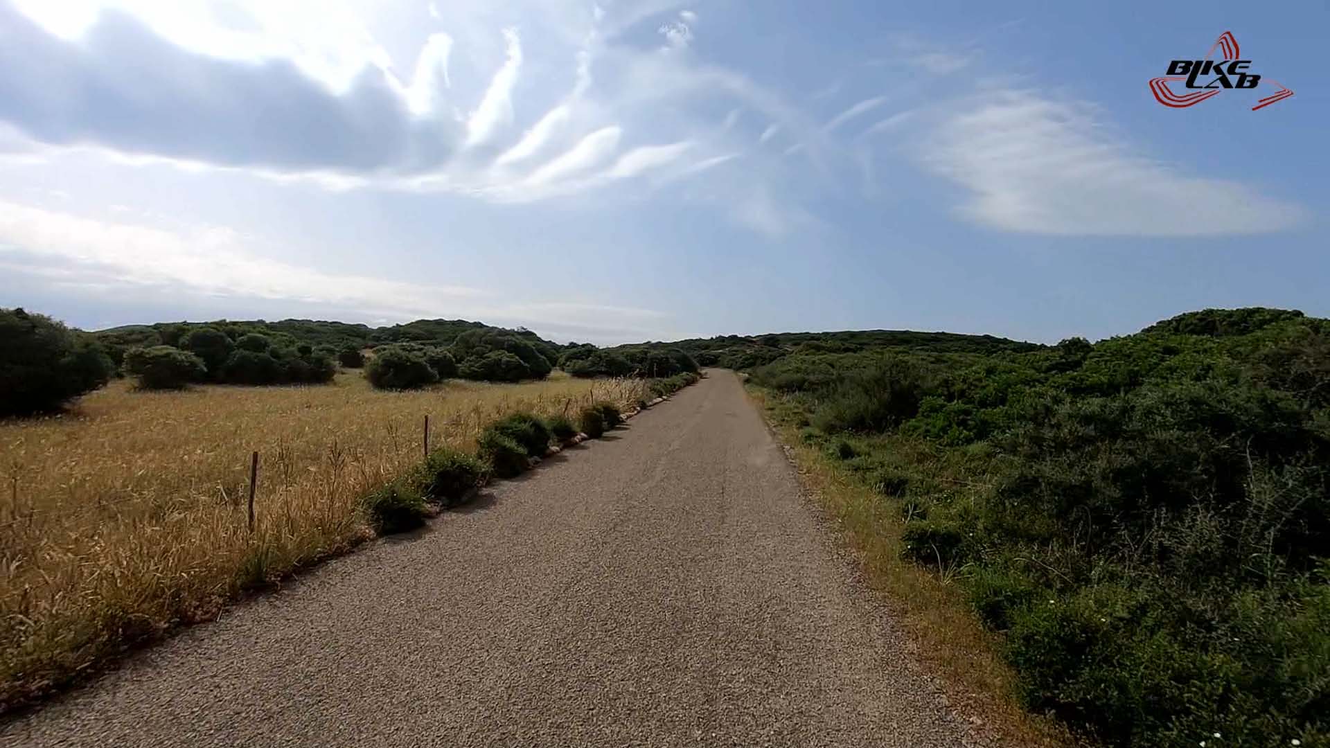
[[[1330,5],[1261,8],[0,0],[0,306],[601,345],[1330,317]],[[1294,96],[1157,102],[1224,31]]]

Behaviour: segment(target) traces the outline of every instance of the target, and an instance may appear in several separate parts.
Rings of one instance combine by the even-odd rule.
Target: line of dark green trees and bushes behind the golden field
[[[396,390],[450,378],[540,379],[559,366],[575,377],[668,378],[697,371],[678,349],[559,345],[531,330],[464,319],[388,327],[218,319],[85,333],[43,314],[0,309],[0,415],[57,410],[114,375],[132,377],[144,389],[295,385],[330,382],[340,366],[364,367],[371,385]]]

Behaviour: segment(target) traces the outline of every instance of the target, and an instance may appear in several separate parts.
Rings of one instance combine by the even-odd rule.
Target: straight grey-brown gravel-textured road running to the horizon
[[[154,647],[0,745],[962,745],[735,377]]]

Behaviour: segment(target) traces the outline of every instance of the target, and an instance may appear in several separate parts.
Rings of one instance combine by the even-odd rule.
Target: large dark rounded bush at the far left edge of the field
[[[0,415],[57,410],[114,371],[96,341],[23,309],[0,309]]]

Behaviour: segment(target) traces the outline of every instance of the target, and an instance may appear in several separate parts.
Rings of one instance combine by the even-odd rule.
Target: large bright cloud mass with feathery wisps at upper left
[[[616,180],[660,189],[724,164],[735,137],[751,137],[738,134],[751,112],[766,126],[759,142],[779,133],[782,148],[801,144],[798,169],[814,172],[793,174],[778,150],[754,154],[773,201],[834,182],[843,165],[842,146],[779,93],[644,44],[640,32],[661,19],[672,48],[692,41],[700,17],[678,0],[384,0],[374,15],[362,0],[78,1],[86,13],[0,0],[0,162],[169,165],[535,201]],[[436,23],[416,23],[422,11]],[[415,25],[404,36],[402,24],[376,23],[403,13]],[[398,35],[391,56],[371,27]],[[728,112],[722,122],[716,112]],[[622,180],[649,170],[660,177]]]

